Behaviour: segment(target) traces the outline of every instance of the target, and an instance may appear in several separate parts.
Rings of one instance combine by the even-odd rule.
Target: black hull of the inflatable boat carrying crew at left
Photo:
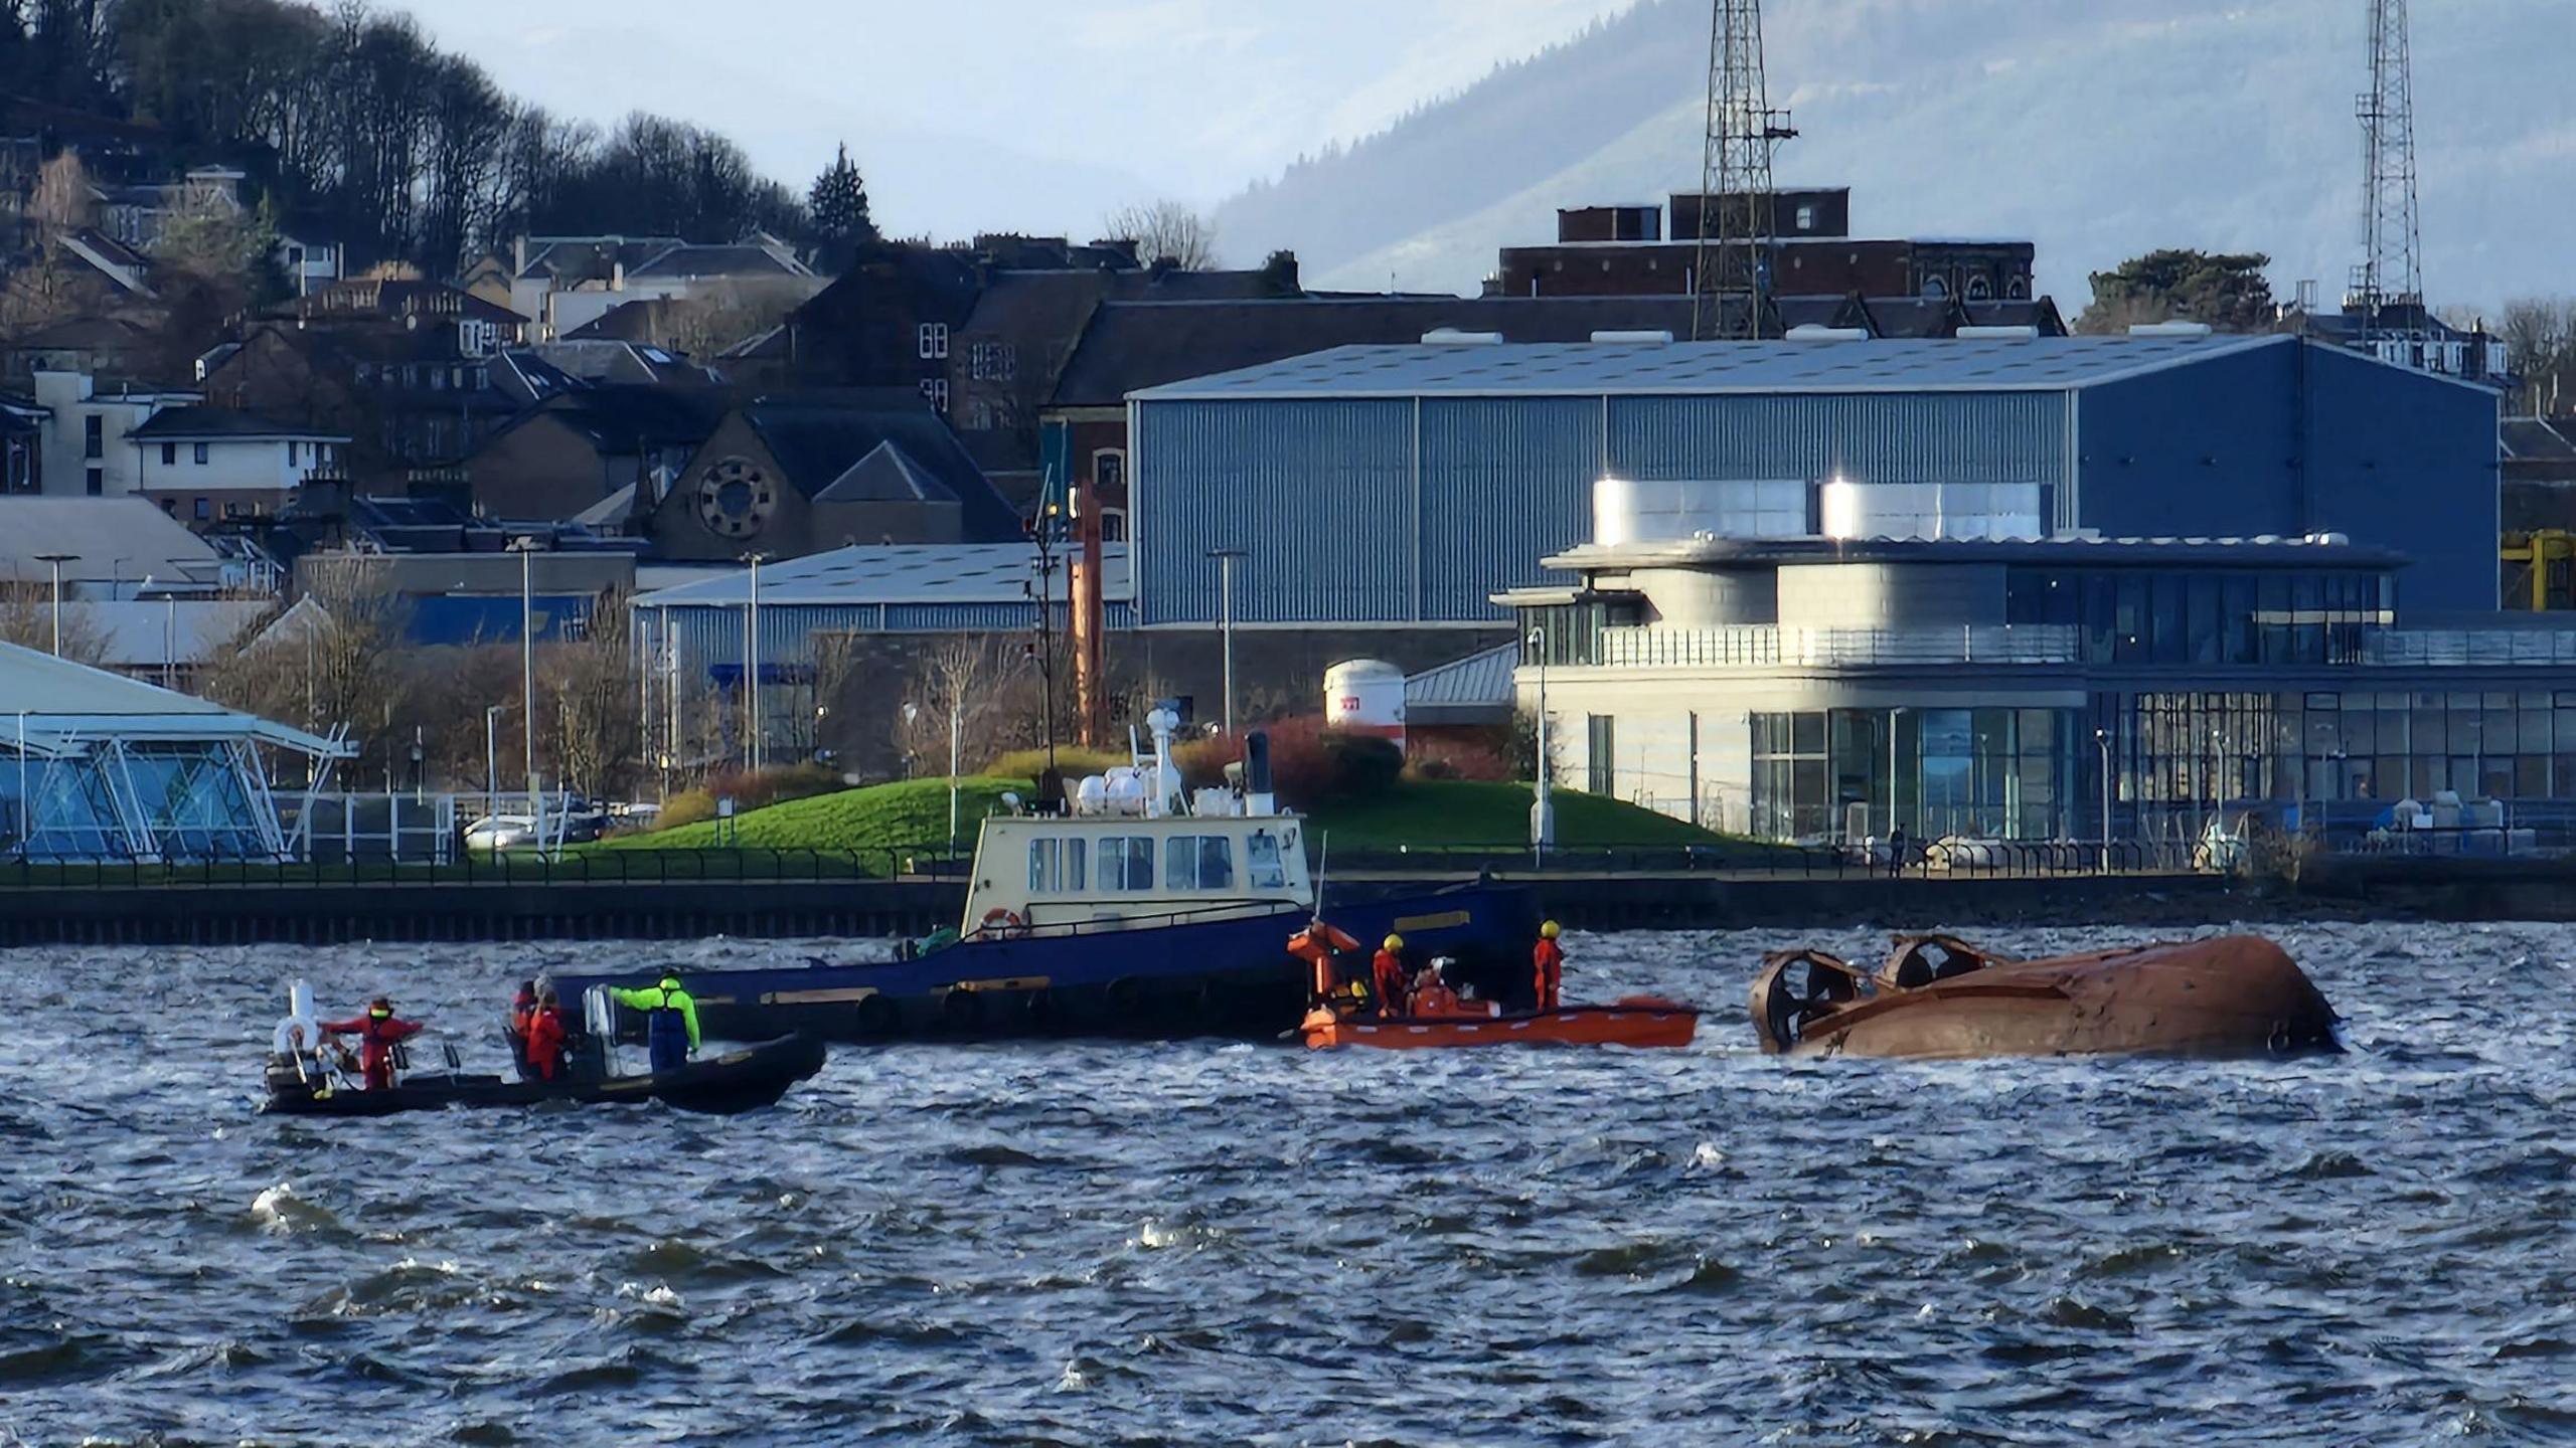
[[[580,1105],[644,1105],[737,1116],[778,1105],[796,1082],[822,1069],[824,1043],[788,1036],[690,1062],[677,1072],[520,1082],[507,1077],[415,1074],[389,1090],[273,1090],[273,1116],[394,1116],[402,1110],[513,1108],[569,1100]]]

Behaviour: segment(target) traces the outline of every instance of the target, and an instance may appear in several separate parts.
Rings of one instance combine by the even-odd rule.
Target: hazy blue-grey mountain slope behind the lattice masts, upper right
[[[2576,3],[2416,0],[2427,286],[2566,291]],[[2069,307],[2154,247],[2262,250],[2282,291],[2357,260],[2362,0],[1770,0],[1780,183],[1852,186],[1865,234],[2040,245]],[[1533,36],[1533,49],[1540,36]],[[1556,209],[1698,186],[1708,0],[1636,10],[1229,201],[1231,250],[1324,286],[1471,291]]]

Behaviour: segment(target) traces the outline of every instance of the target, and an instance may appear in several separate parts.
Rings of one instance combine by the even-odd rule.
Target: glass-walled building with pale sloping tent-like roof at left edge
[[[283,861],[263,750],[353,750],[0,644],[0,832],[21,861]],[[319,773],[319,770],[317,770]]]

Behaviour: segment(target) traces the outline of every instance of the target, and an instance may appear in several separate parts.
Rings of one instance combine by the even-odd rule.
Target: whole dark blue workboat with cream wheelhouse
[[[1275,806],[1260,734],[1242,788],[1185,796],[1170,763],[1175,719],[1157,709],[1149,724],[1154,757],[1079,781],[1064,812],[984,819],[956,943],[871,964],[683,971],[703,1031],[904,1041],[1293,1028],[1311,971],[1288,938],[1316,917],[1306,819]],[[1368,948],[1401,935],[1414,964],[1448,956],[1453,979],[1497,1000],[1530,989],[1538,907],[1525,886],[1370,894],[1337,881],[1324,917]],[[1365,971],[1365,956],[1352,966]],[[647,979],[556,987],[569,997]]]

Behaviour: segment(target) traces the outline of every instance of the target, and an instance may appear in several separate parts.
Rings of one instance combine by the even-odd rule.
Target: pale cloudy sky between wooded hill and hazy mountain
[[[402,8],[379,0],[386,8]],[[559,113],[649,108],[801,186],[848,139],[881,227],[1087,232],[1208,206],[1631,0],[415,0]]]

